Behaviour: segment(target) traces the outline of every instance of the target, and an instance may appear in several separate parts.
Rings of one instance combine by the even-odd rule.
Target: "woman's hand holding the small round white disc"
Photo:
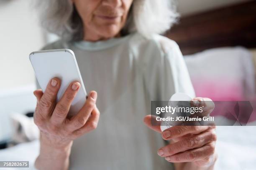
[[[193,100],[207,100],[196,97]],[[212,100],[210,100],[212,101]],[[201,102],[201,101],[200,101]],[[210,103],[210,102],[207,102]],[[207,105],[205,112],[212,111],[213,105]],[[169,145],[159,148],[158,155],[168,162],[190,162],[199,167],[210,167],[217,159],[215,144],[217,135],[213,126],[173,126],[161,132],[160,125],[151,125],[151,115],[144,118],[145,124],[159,133],[164,140],[171,140]]]

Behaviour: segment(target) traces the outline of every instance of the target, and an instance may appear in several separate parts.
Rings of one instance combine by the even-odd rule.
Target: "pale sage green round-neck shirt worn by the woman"
[[[56,41],[44,50],[74,51],[87,92],[98,93],[96,130],[74,141],[71,170],[173,170],[157,155],[166,145],[148,129],[151,100],[169,100],[175,92],[195,96],[176,42],[139,33],[98,42]]]

